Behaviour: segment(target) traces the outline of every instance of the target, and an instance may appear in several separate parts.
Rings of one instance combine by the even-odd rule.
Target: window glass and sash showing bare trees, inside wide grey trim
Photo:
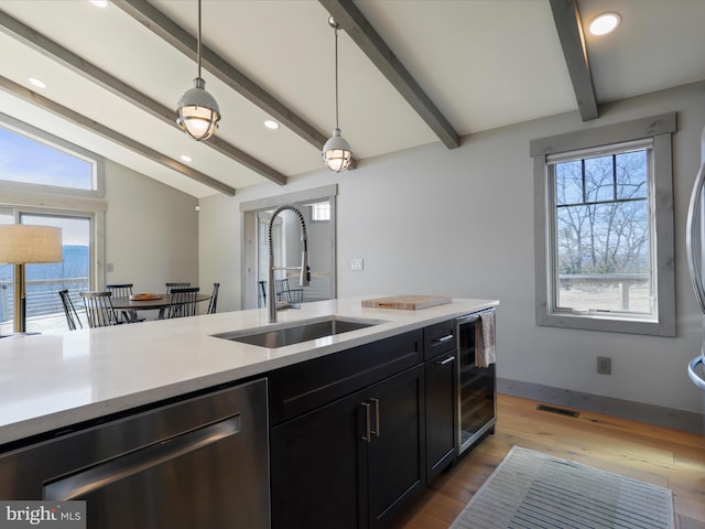
[[[549,159],[556,312],[657,317],[651,147]]]

